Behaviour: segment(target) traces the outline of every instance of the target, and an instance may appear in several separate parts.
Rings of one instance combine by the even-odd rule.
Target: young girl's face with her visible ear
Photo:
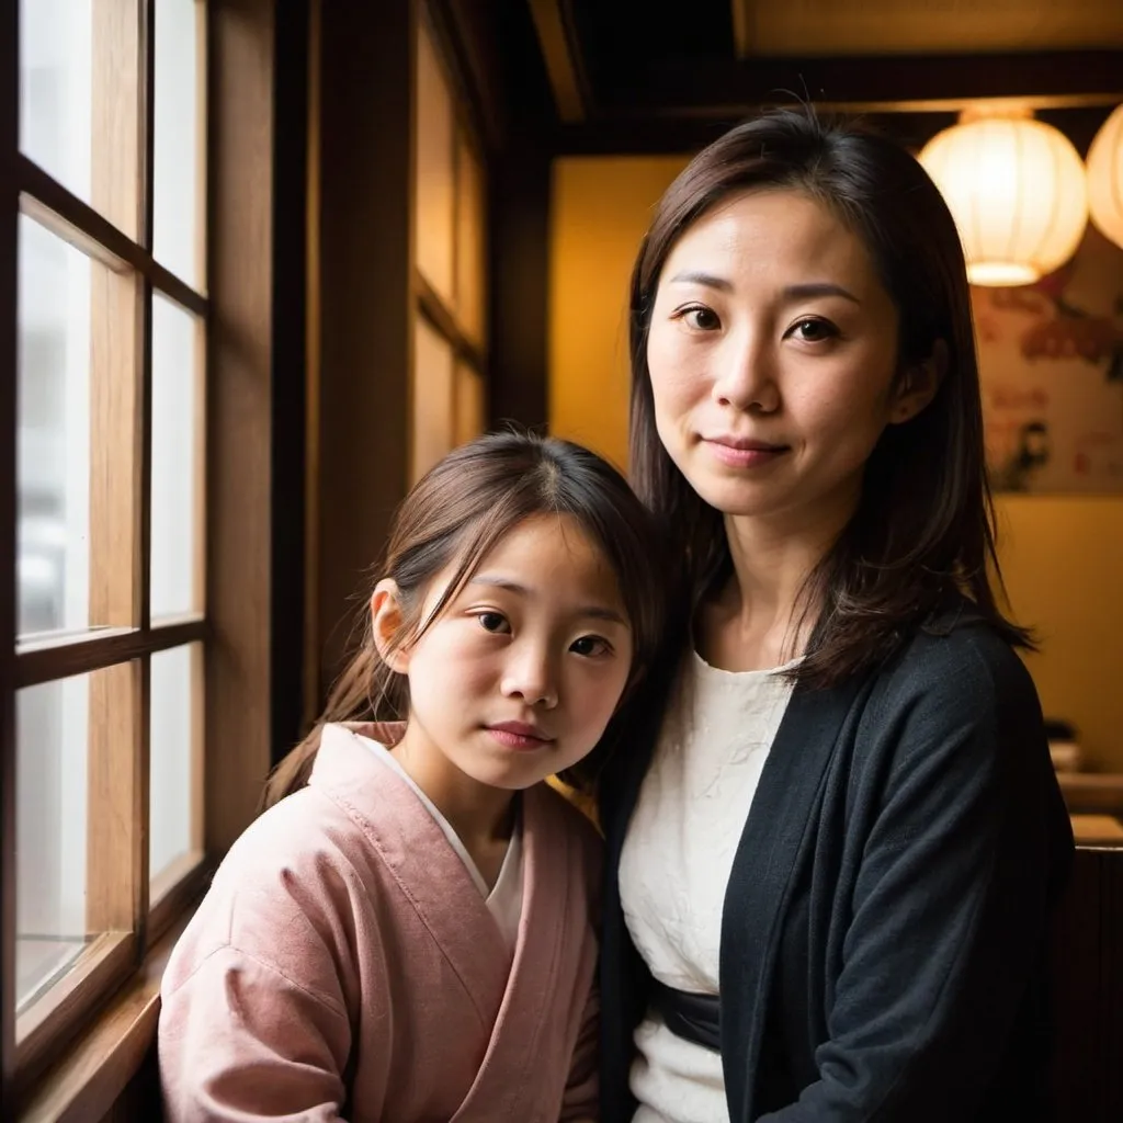
[[[432,582],[421,619],[451,573]],[[396,627],[395,590],[375,592],[376,638]],[[600,740],[631,670],[615,575],[569,515],[538,515],[484,556],[440,617],[390,655],[409,676],[399,751],[491,787],[529,787]]]

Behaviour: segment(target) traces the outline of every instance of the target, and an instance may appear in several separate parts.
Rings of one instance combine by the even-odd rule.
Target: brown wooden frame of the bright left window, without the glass
[[[182,929],[209,873],[253,818],[268,767],[268,594],[272,331],[272,174],[274,18],[276,0],[202,0],[207,37],[202,57],[207,117],[204,199],[209,221],[208,284],[197,291],[156,262],[152,245],[154,163],[154,0],[95,0],[110,17],[99,35],[120,36],[131,25],[137,57],[119,38],[108,56],[135,65],[135,109],[108,107],[94,118],[94,202],[85,203],[25,157],[18,148],[19,0],[0,3],[0,432],[15,437],[17,350],[16,240],[18,214],[33,217],[107,268],[91,283],[91,300],[109,302],[133,328],[95,338],[91,323],[91,426],[106,440],[91,442],[91,573],[97,553],[126,527],[136,549],[118,560],[101,601],[91,595],[91,619],[104,627],[79,637],[16,634],[15,439],[0,440],[0,1117],[101,1117],[152,1044],[158,978],[171,942]],[[135,4],[135,8],[131,6]],[[95,8],[95,20],[98,12]],[[139,26],[139,35],[136,27]],[[201,44],[202,46],[202,44]],[[93,60],[98,70],[98,57]],[[95,79],[97,81],[97,79]],[[117,83],[122,79],[118,70]],[[116,111],[115,111],[116,110]],[[130,131],[131,130],[131,131]],[[112,162],[97,158],[98,138],[110,150],[137,146],[139,175],[113,179]],[[99,180],[99,176],[101,179]],[[107,201],[108,200],[108,201]],[[128,218],[135,213],[131,232]],[[107,213],[120,223],[115,225]],[[97,272],[97,265],[93,266]],[[128,284],[113,279],[128,277]],[[208,294],[204,295],[204,292]],[[206,520],[199,563],[206,579],[201,614],[154,623],[148,613],[152,487],[152,301],[159,293],[204,325],[206,460],[199,489]],[[109,319],[109,318],[107,318]],[[206,358],[203,358],[206,356]],[[122,363],[135,377],[120,377]],[[99,369],[117,371],[99,380]],[[111,395],[116,395],[112,396]],[[124,395],[124,396],[122,396]],[[111,439],[109,439],[111,437]],[[104,456],[115,464],[115,487],[104,486]],[[122,451],[127,449],[127,451]],[[262,532],[263,527],[266,532]],[[100,536],[100,538],[99,538]],[[107,545],[109,544],[109,545]],[[203,557],[203,551],[206,557]],[[120,554],[119,548],[117,554]],[[197,573],[199,569],[197,568]],[[263,579],[264,575],[264,579]],[[263,599],[264,592],[264,599]],[[95,613],[95,614],[94,614]],[[183,645],[206,647],[204,733],[194,769],[192,836],[198,849],[181,856],[155,882],[148,870],[148,739],[150,657]],[[91,721],[88,800],[128,824],[110,840],[91,816],[89,868],[112,877],[88,883],[91,920],[106,932],[70,973],[17,1020],[15,1012],[15,700],[22,687],[99,672],[91,706],[110,704],[115,724]],[[199,682],[197,678],[195,682]],[[128,700],[127,705],[121,703]],[[197,723],[198,724],[198,723]],[[98,853],[101,848],[101,853]],[[94,856],[97,855],[97,861]],[[126,871],[127,867],[127,871]],[[89,874],[88,874],[89,876]],[[131,982],[130,982],[131,980]],[[31,1019],[31,1021],[28,1021]],[[124,1063],[122,1063],[124,1059]],[[65,1106],[60,1106],[65,1105]]]

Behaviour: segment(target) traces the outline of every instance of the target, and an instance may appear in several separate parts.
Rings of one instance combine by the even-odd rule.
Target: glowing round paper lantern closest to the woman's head
[[[959,228],[971,284],[1032,284],[1076,252],[1088,221],[1084,162],[1032,113],[965,110],[920,162]]]

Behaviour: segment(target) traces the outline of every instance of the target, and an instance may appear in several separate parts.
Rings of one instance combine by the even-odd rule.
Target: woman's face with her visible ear
[[[931,400],[896,385],[897,312],[861,240],[807,195],[750,191],[664,265],[647,344],[659,438],[699,495],[789,529],[841,524],[887,423]]]

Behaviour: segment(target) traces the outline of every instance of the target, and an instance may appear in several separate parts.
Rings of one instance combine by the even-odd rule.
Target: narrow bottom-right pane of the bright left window
[[[152,656],[148,772],[148,873],[157,880],[176,858],[199,848],[195,813],[202,783],[199,752],[202,645]]]

